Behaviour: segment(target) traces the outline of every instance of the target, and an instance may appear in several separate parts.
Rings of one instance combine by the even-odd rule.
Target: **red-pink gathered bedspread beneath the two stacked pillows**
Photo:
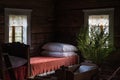
[[[40,73],[56,70],[60,66],[69,66],[78,63],[78,56],[70,56],[63,58],[55,57],[32,57],[30,58],[31,76]]]

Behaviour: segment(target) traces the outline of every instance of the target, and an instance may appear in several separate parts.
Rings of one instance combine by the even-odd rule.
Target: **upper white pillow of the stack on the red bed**
[[[42,49],[48,50],[48,51],[77,51],[77,48],[71,44],[65,44],[65,43],[47,43],[45,44]]]

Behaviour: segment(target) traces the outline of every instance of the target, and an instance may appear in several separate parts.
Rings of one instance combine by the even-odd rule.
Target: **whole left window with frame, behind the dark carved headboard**
[[[29,44],[31,10],[5,8],[5,42]]]

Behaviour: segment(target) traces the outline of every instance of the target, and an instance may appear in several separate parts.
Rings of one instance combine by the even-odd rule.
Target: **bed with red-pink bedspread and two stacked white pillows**
[[[47,43],[42,47],[41,56],[30,58],[31,75],[36,76],[42,73],[59,69],[61,66],[78,64],[77,48],[65,43]]]

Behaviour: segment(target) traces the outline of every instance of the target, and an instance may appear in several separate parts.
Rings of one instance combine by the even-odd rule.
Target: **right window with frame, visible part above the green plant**
[[[105,31],[105,34],[110,35],[110,42],[113,44],[113,22],[114,22],[114,9],[92,9],[84,10],[85,26],[88,26],[89,36],[96,30]],[[94,30],[92,30],[94,28]],[[107,44],[108,42],[106,42]]]

